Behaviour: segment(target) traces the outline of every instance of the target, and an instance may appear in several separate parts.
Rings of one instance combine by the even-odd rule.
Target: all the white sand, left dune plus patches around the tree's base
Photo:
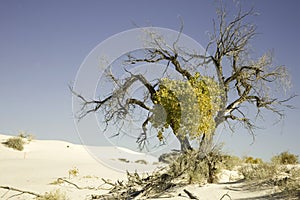
[[[116,181],[126,178],[126,173],[116,171],[111,167],[96,161],[81,145],[75,145],[62,141],[42,141],[33,140],[25,145],[23,151],[7,148],[2,144],[11,136],[0,135],[0,185],[28,190],[40,194],[60,189],[65,192],[69,199],[87,199],[91,194],[103,194],[107,190],[78,190],[74,186],[63,183],[60,185],[50,184],[57,178],[65,178],[79,187],[99,187],[103,184],[101,178]],[[129,150],[114,147],[98,147],[99,152],[103,152],[106,156],[105,162],[111,162],[122,165],[125,168],[146,168],[155,169],[157,165],[152,163],[155,158],[145,156],[144,154],[134,154]],[[116,156],[120,156],[129,160],[129,163],[119,161]],[[131,155],[131,156],[130,156]],[[112,158],[112,159],[110,159]],[[149,164],[135,164],[135,160],[144,159]],[[77,177],[70,177],[68,171],[76,167],[79,171]],[[222,195],[228,193],[232,199],[242,199],[250,197],[258,197],[267,194],[269,191],[250,192],[241,191],[239,183],[228,183],[238,179],[236,171],[224,171],[221,176],[222,184],[209,184],[205,186],[189,185],[184,188],[175,188],[170,192],[175,196],[171,199],[187,199],[187,195],[183,189],[187,189],[202,199],[220,199]],[[101,186],[104,187],[103,185]],[[18,194],[17,192],[0,189],[0,199],[8,199],[10,196]],[[181,196],[178,196],[178,195]],[[33,199],[32,195],[18,195],[10,199]],[[165,199],[165,198],[162,198]],[[229,199],[229,198],[223,198]]]

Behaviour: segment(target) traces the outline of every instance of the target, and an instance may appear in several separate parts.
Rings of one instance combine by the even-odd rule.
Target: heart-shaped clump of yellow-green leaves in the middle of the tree
[[[154,96],[150,119],[159,130],[159,140],[163,139],[163,132],[168,127],[175,135],[188,135],[191,139],[212,134],[222,95],[223,90],[213,78],[199,73],[189,81],[162,79]]]

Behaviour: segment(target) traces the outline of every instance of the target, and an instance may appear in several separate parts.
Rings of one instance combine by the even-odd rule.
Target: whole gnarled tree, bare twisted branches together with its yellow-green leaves
[[[136,109],[143,110],[146,117],[137,138],[140,148],[145,147],[151,126],[156,128],[159,141],[164,140],[165,130],[171,129],[182,151],[192,149],[190,140],[198,140],[200,146],[210,144],[215,129],[224,122],[229,127],[231,122],[239,122],[253,135],[253,118],[243,107],[254,110],[256,117],[263,116],[262,111],[270,111],[281,119],[282,108],[289,107],[284,103],[293,96],[280,99],[273,88],[281,86],[284,90],[289,86],[287,68],[274,66],[271,53],[251,57],[249,45],[256,35],[256,26],[247,18],[253,15],[253,9],[247,12],[239,9],[230,20],[221,5],[204,54],[178,46],[183,26],[171,46],[160,35],[149,32],[148,42],[153,48],[128,53],[123,60],[121,67],[127,76],[121,78],[111,69],[106,70],[106,78],[115,84],[112,92],[87,100],[72,90],[83,102],[79,118],[102,111],[108,125],[126,120]],[[191,62],[197,65],[190,67]],[[149,80],[142,73],[128,70],[142,63],[160,63],[181,78],[174,79],[164,71],[157,79]],[[214,69],[215,74],[205,75],[203,71],[207,68]],[[128,96],[135,83],[144,87],[143,95]]]

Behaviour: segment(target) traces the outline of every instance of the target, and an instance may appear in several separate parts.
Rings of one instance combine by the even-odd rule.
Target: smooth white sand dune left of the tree
[[[90,186],[87,184],[91,180],[93,180],[91,186],[98,187],[102,183],[101,178],[113,181],[125,178],[124,173],[105,167],[93,159],[83,146],[62,141],[33,140],[25,145],[23,151],[17,151],[2,144],[8,137],[0,135],[0,185],[2,186],[43,194],[46,191],[61,188],[50,183],[57,178],[68,179],[68,171],[74,167],[78,169],[79,175],[68,180],[80,187]],[[84,176],[88,178],[83,178]],[[77,190],[68,184],[63,190],[67,192],[70,199],[84,199],[87,194],[93,193],[92,191]],[[5,192],[5,190],[0,190],[0,199]],[[13,194],[15,193],[9,192],[5,198]],[[21,199],[30,197],[22,196]],[[19,196],[18,199],[22,196]]]

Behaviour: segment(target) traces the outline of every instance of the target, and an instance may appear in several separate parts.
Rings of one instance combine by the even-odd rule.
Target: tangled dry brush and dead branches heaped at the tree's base
[[[139,175],[127,173],[127,181],[112,183],[102,179],[111,185],[109,194],[94,195],[94,199],[144,199],[158,198],[167,190],[176,185],[190,183],[206,183],[217,180],[218,166],[221,162],[219,151],[214,149],[208,154],[190,150],[178,155],[168,167],[161,168],[152,174]]]

